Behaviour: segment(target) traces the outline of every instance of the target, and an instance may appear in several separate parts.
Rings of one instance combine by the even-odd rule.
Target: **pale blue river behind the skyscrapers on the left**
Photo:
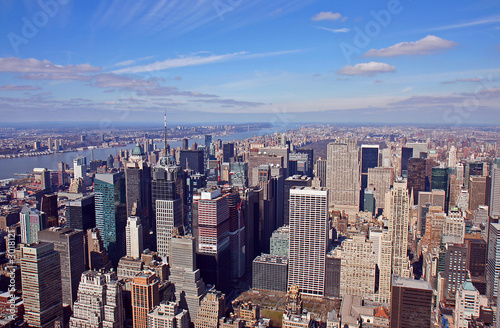
[[[262,135],[272,134],[276,131],[283,132],[285,131],[285,127],[282,126],[269,129],[238,132],[224,136],[214,135],[213,140],[217,139],[221,139],[222,141],[243,140],[251,138],[255,135],[262,136]],[[193,142],[196,142],[198,145],[204,145],[205,139],[204,138],[189,139],[189,145],[192,145]],[[169,141],[169,145],[174,148],[180,147],[181,141]],[[163,143],[157,144],[157,147],[162,148]],[[123,147],[94,149],[94,159],[106,160],[110,154],[113,156],[118,154],[120,149],[133,149],[133,148],[134,144],[130,144]],[[64,162],[72,166],[73,159],[75,159],[75,157],[77,156],[87,157],[87,163],[89,163],[92,158],[92,153],[90,149],[86,149],[81,151],[55,153],[55,154],[33,156],[33,157],[3,158],[0,159],[0,180],[14,178],[15,177],[14,173],[33,172],[33,168],[35,167],[47,168],[49,170],[57,171],[57,163]]]

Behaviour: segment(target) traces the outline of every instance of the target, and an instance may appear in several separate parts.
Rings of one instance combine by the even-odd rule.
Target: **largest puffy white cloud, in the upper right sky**
[[[364,57],[394,57],[409,55],[428,55],[437,51],[453,48],[458,43],[441,39],[435,35],[413,42],[400,42],[383,49],[370,49]]]

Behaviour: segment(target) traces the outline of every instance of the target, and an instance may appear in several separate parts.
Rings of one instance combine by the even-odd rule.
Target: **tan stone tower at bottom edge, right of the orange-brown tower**
[[[224,316],[226,297],[221,292],[211,289],[201,300],[195,328],[214,328],[219,325],[219,318]]]

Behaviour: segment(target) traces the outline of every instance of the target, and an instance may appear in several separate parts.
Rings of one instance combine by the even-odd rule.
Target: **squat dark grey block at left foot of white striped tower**
[[[286,256],[262,254],[252,263],[252,288],[287,291],[288,258]]]

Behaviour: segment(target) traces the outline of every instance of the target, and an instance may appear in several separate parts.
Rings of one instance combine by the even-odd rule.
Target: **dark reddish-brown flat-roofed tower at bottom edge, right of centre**
[[[428,281],[392,276],[391,328],[431,327],[432,287]]]

